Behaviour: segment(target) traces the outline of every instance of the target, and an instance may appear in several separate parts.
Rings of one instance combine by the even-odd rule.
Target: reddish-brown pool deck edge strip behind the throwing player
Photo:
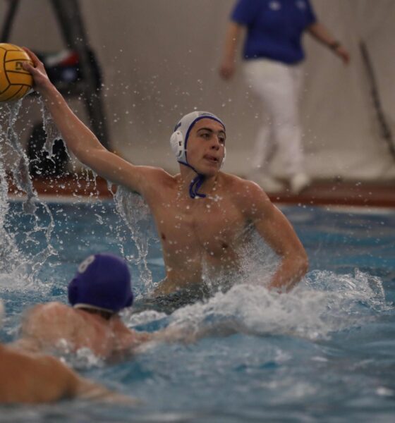
[[[9,194],[20,197],[11,179]],[[57,179],[35,178],[33,186],[40,197],[57,198],[59,200],[95,200],[96,198],[110,199],[106,180],[97,178],[96,182],[86,176],[69,176]],[[116,187],[113,185],[115,192]],[[313,182],[298,195],[289,190],[269,195],[272,202],[278,204],[305,205],[335,205],[359,207],[394,207],[395,208],[395,180],[386,182],[320,180]]]

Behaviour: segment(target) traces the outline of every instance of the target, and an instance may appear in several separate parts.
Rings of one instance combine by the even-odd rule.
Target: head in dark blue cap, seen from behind
[[[118,313],[133,303],[126,262],[112,254],[87,257],[68,284],[68,300],[75,308]]]

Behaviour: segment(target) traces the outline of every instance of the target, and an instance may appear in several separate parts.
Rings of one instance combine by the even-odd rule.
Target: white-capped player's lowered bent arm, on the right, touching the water
[[[255,183],[245,183],[243,206],[246,218],[253,221],[257,232],[280,257],[268,288],[291,290],[308,271],[308,256],[291,223]]]

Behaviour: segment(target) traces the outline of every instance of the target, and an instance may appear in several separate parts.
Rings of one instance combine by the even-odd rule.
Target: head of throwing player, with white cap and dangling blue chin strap
[[[224,164],[225,139],[224,123],[208,111],[193,111],[178,121],[170,145],[178,163],[197,173],[190,197],[205,197],[197,191],[205,177],[213,176]]]

